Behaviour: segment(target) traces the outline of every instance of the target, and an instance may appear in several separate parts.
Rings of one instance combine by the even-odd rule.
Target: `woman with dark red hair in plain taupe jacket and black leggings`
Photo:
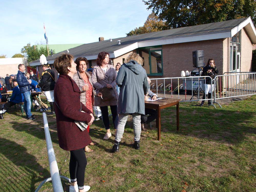
[[[101,97],[95,97],[95,106],[99,106],[102,113],[102,121],[104,123],[107,133],[103,139],[109,139],[111,137],[110,126],[109,126],[109,113],[108,106],[112,113],[114,129],[116,133],[116,126],[118,123],[117,115],[117,102],[118,93],[116,91],[116,71],[114,66],[109,65],[109,54],[107,52],[100,52],[96,60],[97,66],[92,71],[92,83],[96,88],[96,93],[100,92],[103,88],[108,88],[112,94],[112,99],[103,101]],[[103,97],[104,97],[104,93]]]

